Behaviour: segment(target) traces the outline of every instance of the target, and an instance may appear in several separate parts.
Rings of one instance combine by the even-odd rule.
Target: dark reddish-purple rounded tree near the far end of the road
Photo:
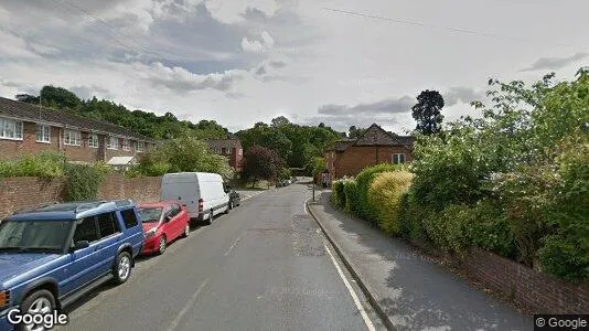
[[[269,148],[254,146],[244,153],[243,174],[255,186],[258,180],[275,180],[285,162]]]

